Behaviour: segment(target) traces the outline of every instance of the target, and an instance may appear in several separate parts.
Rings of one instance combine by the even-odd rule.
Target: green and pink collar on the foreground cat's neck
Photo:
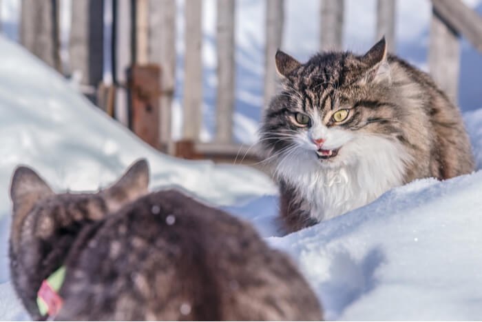
[[[65,279],[65,266],[61,266],[53,272],[47,279],[44,279],[42,285],[37,292],[36,304],[42,316],[48,314],[53,317],[59,314],[63,300],[57,292],[59,292],[63,279]]]

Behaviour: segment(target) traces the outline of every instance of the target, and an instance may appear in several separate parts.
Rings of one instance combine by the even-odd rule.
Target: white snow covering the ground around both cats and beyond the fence
[[[2,6],[7,2],[2,1]],[[246,10],[250,3],[258,6],[255,3],[260,2],[242,1]],[[288,1],[289,8],[295,8],[295,2]],[[399,6],[406,2],[410,3],[398,1]],[[254,14],[255,9],[251,10]],[[311,14],[314,10],[318,9],[311,8]],[[317,23],[302,21],[306,28]],[[252,37],[243,36],[240,46],[256,48],[262,32],[249,28]],[[423,36],[426,27],[419,30]],[[370,37],[361,36],[360,46]],[[410,39],[410,35],[404,37]],[[300,51],[309,54],[310,42],[300,45]],[[268,243],[289,252],[324,305],[326,319],[480,319],[482,108],[463,114],[477,172],[443,182],[418,180],[390,190],[363,208],[280,237],[274,223],[277,191],[265,174],[160,154],[99,112],[28,52],[2,38],[0,47],[0,320],[28,319],[8,272],[8,189],[14,167],[31,165],[58,191],[95,190],[140,157],[149,160],[151,190],[182,188],[251,221]],[[240,55],[253,63],[249,50]],[[237,123],[244,123],[235,130],[238,138],[253,135],[253,115],[262,102],[256,89],[260,86],[256,79],[262,79],[262,57],[258,59],[253,63],[258,69],[242,74],[247,87],[237,92],[245,104],[235,116]],[[209,65],[211,78],[215,68]],[[211,85],[216,81],[211,80]],[[211,103],[205,101],[207,112]],[[212,117],[213,110],[209,113]],[[209,137],[209,129],[205,135]]]

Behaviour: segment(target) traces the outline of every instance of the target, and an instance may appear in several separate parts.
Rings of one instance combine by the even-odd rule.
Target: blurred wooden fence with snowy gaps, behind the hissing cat
[[[1,32],[159,150],[251,162],[277,48],[382,36],[463,111],[482,107],[482,0],[0,0]]]

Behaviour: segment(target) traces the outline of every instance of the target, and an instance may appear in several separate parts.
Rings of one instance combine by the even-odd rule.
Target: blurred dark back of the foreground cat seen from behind
[[[174,190],[140,198],[83,231],[66,266],[58,319],[322,317],[286,255],[251,225]]]

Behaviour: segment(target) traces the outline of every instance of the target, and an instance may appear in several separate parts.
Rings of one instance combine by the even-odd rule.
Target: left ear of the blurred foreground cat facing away
[[[39,174],[23,165],[14,170],[10,185],[10,198],[13,202],[13,212],[16,216],[29,212],[37,201],[54,194]]]

